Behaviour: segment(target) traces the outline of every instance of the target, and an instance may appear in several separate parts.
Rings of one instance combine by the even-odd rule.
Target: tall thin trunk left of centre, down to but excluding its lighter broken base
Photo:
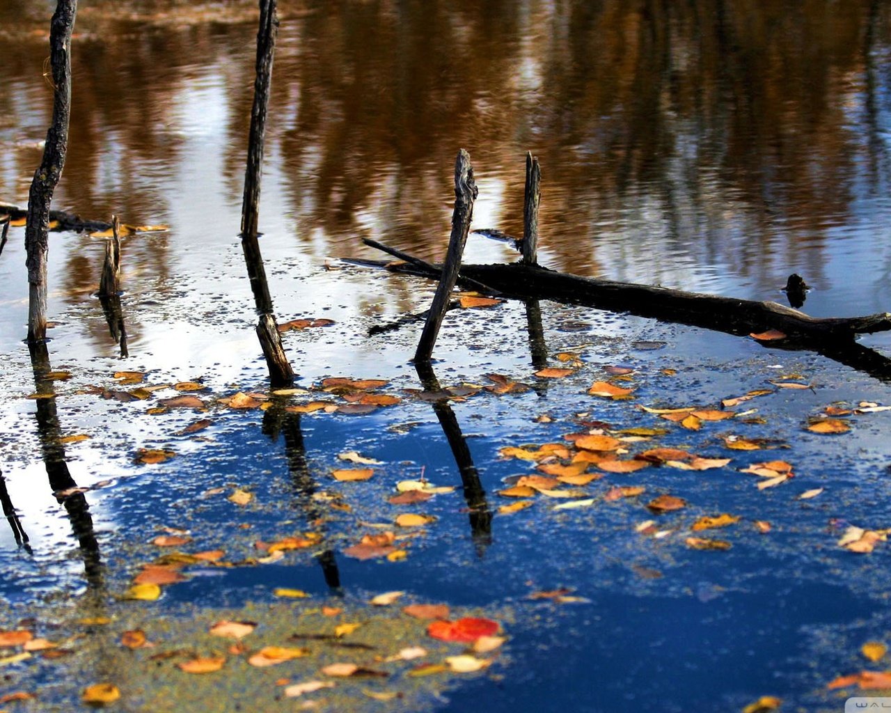
[[[250,289],[254,293],[257,312],[273,311],[273,300],[266,282],[266,269],[257,240],[260,177],[263,169],[263,146],[266,135],[266,113],[269,88],[272,84],[275,36],[278,18],[276,0],[259,0],[260,25],[257,30],[257,76],[254,80],[254,103],[250,111],[248,162],[244,172],[244,197],[241,202],[241,249],[248,266]]]

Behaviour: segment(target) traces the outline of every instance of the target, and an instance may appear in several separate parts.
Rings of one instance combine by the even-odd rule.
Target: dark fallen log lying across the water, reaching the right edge
[[[373,247],[391,255],[404,255],[381,243],[375,242]],[[360,266],[384,267],[391,272],[436,280],[439,279],[441,269],[438,265],[431,265],[428,269],[417,263],[388,260],[347,259],[347,262]],[[809,349],[883,381],[891,381],[891,359],[855,341],[858,334],[891,330],[891,314],[887,312],[854,317],[812,317],[772,301],[759,302],[665,287],[618,283],[568,275],[522,263],[462,265],[459,283],[462,280],[472,280],[478,290],[480,285],[485,285],[486,288],[497,291],[500,297],[550,299],[564,304],[688,324],[737,336],[776,330],[785,337],[760,343],[765,347]]]

